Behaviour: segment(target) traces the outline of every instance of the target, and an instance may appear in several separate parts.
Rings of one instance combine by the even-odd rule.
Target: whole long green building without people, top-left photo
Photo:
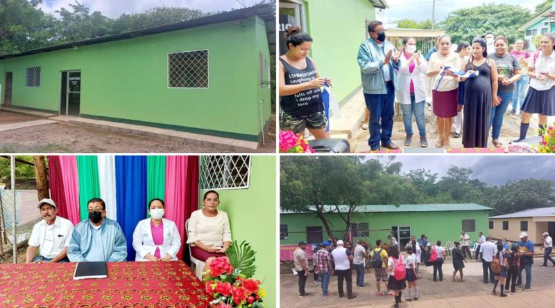
[[[272,6],[0,56],[1,105],[258,141]]]

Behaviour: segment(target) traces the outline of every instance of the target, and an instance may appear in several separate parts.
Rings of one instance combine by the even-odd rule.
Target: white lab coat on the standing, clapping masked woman
[[[399,64],[399,89],[397,91],[397,101],[401,104],[411,103],[411,79],[414,84],[414,99],[416,102],[426,100],[426,89],[424,87],[424,77],[428,69],[428,63],[423,55],[420,55],[420,65],[414,62],[414,70],[409,70],[409,60],[401,55]]]

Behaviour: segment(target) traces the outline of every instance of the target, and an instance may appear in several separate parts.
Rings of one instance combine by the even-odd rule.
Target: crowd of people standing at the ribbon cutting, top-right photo
[[[419,145],[427,147],[425,105],[427,97],[438,129],[436,147],[450,147],[452,119],[454,138],[462,134],[463,147],[503,147],[499,135],[509,105],[510,114],[521,114],[520,134],[527,137],[530,118],[539,116],[539,132],[547,128],[547,117],[555,116],[555,35],[545,33],[538,51],[530,53],[524,42],[513,44],[503,35],[488,33],[472,42],[458,42],[453,51],[451,37],[436,37],[436,46],[421,55],[416,39],[407,37],[395,48],[386,39],[381,21],[368,23],[370,37],[359,47],[357,62],[366,102],[370,150],[398,149],[391,141],[394,102],[400,103],[406,138],[413,143],[413,117]],[[293,26],[285,33],[289,50],[280,57],[280,129],[316,138],[329,138],[321,87],[332,81],[322,78],[308,56],[312,38]],[[509,51],[509,46],[512,49]],[[512,102],[512,103],[511,103]],[[517,137],[517,136],[515,136]]]

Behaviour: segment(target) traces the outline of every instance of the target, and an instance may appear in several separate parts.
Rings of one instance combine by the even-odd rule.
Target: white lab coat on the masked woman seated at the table
[[[176,223],[162,217],[164,224],[164,242],[162,245],[155,245],[152,238],[151,219],[139,221],[135,232],[133,232],[133,248],[137,251],[135,261],[148,261],[144,257],[150,253],[154,255],[156,247],[160,248],[160,257],[167,254],[171,255],[172,260],[176,261],[179,248],[181,247],[181,237]]]

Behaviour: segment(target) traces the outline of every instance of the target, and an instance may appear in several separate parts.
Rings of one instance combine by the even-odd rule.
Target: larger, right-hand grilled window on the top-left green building
[[[208,51],[168,55],[169,88],[208,88]]]

